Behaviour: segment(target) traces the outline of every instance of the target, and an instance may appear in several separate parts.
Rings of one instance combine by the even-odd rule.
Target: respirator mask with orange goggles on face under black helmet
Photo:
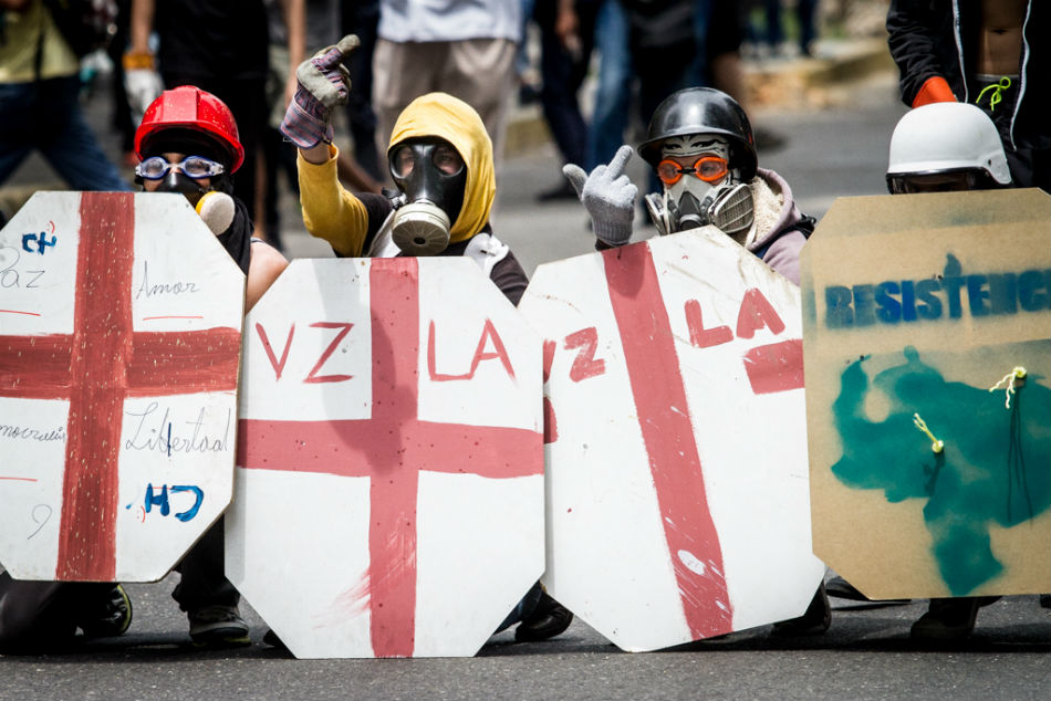
[[[676,136],[664,143],[657,165],[664,192],[645,198],[659,233],[711,224],[743,241],[755,218],[752,195],[729,159],[729,143],[717,136]]]

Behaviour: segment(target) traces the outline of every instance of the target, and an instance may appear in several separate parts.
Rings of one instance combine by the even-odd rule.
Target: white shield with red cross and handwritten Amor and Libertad
[[[230,502],[244,275],[185,198],[41,192],[0,233],[0,562],[152,582]]]

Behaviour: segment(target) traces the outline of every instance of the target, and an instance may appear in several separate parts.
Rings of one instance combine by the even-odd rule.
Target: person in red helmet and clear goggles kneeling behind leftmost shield
[[[237,124],[215,95],[181,86],[149,105],[135,133],[142,159],[136,180],[147,192],[184,195],[248,276],[246,311],[288,266],[277,249],[252,238],[244,203],[232,196],[232,175],[244,158]],[[189,618],[195,645],[248,645],[240,595],[223,574],[220,519],[176,566],[181,580],[171,596]],[[24,582],[0,574],[0,650],[37,652],[85,637],[122,635],[132,603],[119,584]]]

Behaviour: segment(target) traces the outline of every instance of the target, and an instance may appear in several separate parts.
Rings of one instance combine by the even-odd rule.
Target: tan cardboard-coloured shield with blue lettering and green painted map
[[[814,552],[871,598],[1051,587],[1049,201],[842,198],[807,244]]]

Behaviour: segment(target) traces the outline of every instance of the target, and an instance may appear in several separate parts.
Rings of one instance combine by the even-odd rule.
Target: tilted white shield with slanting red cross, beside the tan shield
[[[715,229],[541,265],[548,567],[625,650],[802,615],[811,554],[799,289]]]

